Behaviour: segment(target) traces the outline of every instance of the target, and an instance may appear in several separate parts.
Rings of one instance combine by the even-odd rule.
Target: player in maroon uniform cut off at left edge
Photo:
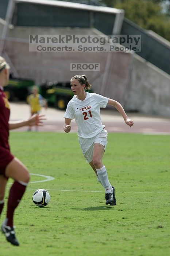
[[[29,173],[27,167],[14,157],[9,148],[8,136],[9,130],[26,125],[42,125],[43,115],[34,115],[25,121],[9,121],[10,106],[6,98],[3,87],[7,85],[9,79],[9,65],[5,59],[0,56],[0,214],[4,206],[5,187],[8,178],[14,180],[9,191],[7,215],[1,231],[5,234],[8,242],[13,245],[19,245],[13,229],[13,214],[18,206],[29,182]]]

